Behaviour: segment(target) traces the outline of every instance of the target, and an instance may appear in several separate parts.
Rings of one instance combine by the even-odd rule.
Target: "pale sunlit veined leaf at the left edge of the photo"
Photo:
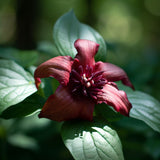
[[[31,74],[11,60],[0,60],[0,113],[37,89]]]

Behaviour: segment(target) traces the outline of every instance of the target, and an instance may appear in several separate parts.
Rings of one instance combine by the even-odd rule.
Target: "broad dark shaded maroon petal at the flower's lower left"
[[[93,110],[93,102],[87,100],[76,101],[67,87],[59,86],[55,94],[48,98],[39,117],[49,118],[54,121],[66,121],[76,118],[91,121]]]

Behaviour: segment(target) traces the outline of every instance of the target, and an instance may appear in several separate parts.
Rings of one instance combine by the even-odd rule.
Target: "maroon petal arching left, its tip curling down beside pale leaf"
[[[70,56],[58,56],[39,65],[34,73],[37,88],[41,83],[40,78],[46,77],[54,77],[62,85],[67,85],[72,63]]]

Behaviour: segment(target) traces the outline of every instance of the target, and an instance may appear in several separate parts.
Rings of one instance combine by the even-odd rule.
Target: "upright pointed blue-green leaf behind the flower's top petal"
[[[70,55],[74,58],[77,51],[74,48],[74,42],[77,39],[87,39],[100,44],[97,60],[106,60],[106,44],[101,35],[86,24],[80,23],[74,12],[70,11],[60,17],[53,30],[55,45],[61,55]]]

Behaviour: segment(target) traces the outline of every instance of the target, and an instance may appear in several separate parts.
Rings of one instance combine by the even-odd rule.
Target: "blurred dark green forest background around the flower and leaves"
[[[53,25],[70,9],[106,40],[107,61],[121,66],[137,90],[160,100],[159,0],[0,0],[0,47],[52,51]],[[112,125],[126,160],[160,159],[160,135],[144,123],[124,118]],[[71,160],[60,126],[37,115],[1,119],[0,159]]]

